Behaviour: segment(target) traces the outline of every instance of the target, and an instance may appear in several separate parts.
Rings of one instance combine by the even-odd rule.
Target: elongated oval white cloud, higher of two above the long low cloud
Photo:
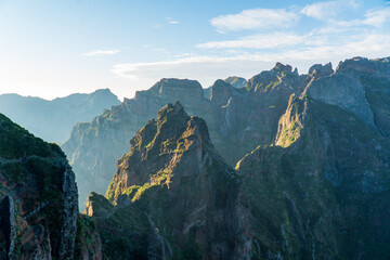
[[[219,32],[224,32],[229,30],[289,28],[298,20],[299,16],[295,12],[285,9],[249,9],[238,14],[217,16],[210,23]]]

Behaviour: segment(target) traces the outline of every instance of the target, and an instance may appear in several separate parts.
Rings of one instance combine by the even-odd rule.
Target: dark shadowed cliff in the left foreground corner
[[[75,174],[55,144],[0,114],[1,259],[74,259]]]

